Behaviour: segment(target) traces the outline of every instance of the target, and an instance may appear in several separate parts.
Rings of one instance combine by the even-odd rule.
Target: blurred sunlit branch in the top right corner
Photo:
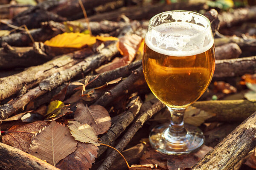
[[[234,9],[233,12],[222,12],[218,15],[220,27],[230,27],[241,22],[255,19],[256,6]]]

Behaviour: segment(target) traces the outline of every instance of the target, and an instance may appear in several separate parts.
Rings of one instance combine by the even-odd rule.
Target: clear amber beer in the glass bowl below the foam
[[[195,102],[206,91],[215,69],[213,42],[208,48],[180,52],[186,56],[174,51],[175,56],[146,39],[143,71],[153,94],[171,108],[186,108]]]

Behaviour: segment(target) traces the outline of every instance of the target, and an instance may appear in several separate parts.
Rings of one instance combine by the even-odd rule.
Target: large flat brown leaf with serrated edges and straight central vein
[[[29,153],[55,166],[76,150],[77,142],[69,129],[55,121],[33,136]]]

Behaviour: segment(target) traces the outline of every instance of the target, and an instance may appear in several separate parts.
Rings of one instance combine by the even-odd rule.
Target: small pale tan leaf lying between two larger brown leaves
[[[80,141],[85,143],[91,143],[95,146],[99,146],[98,138],[96,136],[96,133],[94,132],[93,128],[90,127],[90,125],[87,124],[81,124],[77,121],[68,121],[70,133],[72,136]]]

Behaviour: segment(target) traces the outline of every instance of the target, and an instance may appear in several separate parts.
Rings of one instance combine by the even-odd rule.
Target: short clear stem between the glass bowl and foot
[[[186,108],[170,108],[167,106],[171,113],[171,123],[169,125],[169,135],[174,138],[180,138],[186,135],[186,129],[184,128],[184,113]]]

